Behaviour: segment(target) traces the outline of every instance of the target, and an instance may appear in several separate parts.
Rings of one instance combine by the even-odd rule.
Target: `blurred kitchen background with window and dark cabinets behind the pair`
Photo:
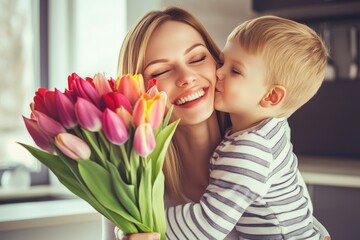
[[[77,72],[116,76],[127,29],[175,5],[197,16],[222,48],[239,23],[264,14],[313,27],[331,56],[318,94],[289,119],[315,216],[332,239],[357,239],[360,215],[360,1],[0,0],[0,239],[101,239],[100,216],[69,194],[18,144],[21,115],[42,86]]]

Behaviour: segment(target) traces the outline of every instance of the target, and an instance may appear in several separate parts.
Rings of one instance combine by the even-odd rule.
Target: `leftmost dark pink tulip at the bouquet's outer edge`
[[[28,119],[24,116],[23,119],[26,129],[28,130],[35,144],[45,151],[52,152],[53,149],[50,144],[50,137],[47,136],[43,131],[41,131],[37,121],[33,119]]]

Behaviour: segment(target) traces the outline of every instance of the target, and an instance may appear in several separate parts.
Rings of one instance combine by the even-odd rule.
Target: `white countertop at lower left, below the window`
[[[0,190],[0,200],[10,197],[56,196],[59,193],[51,186],[36,186],[27,191]],[[60,198],[64,198],[60,190]],[[69,194],[69,193],[67,193]],[[76,196],[66,199],[0,204],[0,232],[60,224],[72,224],[99,220],[101,215],[87,202]]]

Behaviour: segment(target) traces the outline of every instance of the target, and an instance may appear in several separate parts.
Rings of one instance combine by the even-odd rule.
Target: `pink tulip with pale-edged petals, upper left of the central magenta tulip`
[[[101,111],[88,100],[79,97],[75,103],[75,115],[81,127],[97,132],[101,129]]]

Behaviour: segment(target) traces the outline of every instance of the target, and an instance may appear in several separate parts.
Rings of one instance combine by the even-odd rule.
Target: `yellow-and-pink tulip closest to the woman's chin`
[[[133,119],[135,126],[150,123],[154,130],[160,126],[165,113],[163,97],[160,93],[157,93],[154,97],[150,97],[146,93],[142,95],[134,106]]]

